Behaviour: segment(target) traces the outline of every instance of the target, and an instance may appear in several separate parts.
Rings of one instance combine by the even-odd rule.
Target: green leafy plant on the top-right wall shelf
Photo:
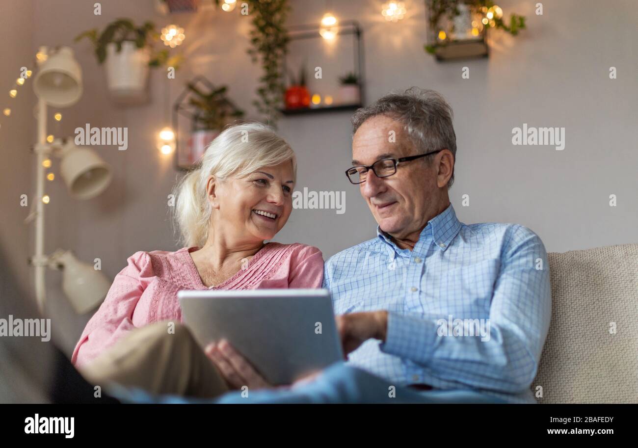
[[[467,4],[470,6],[472,13],[485,14],[490,8],[496,6],[491,0],[425,0],[426,8],[429,11],[429,31],[433,34],[433,40],[436,40],[436,34],[439,29],[439,21],[446,17],[448,20],[454,20],[454,17],[460,15],[459,4]],[[505,17],[505,16],[503,16]],[[525,29],[525,17],[515,13],[510,14],[510,22],[507,24],[503,17],[494,16],[493,28],[502,29],[503,31],[516,36],[521,29]],[[486,26],[487,27],[487,26]],[[428,53],[434,54],[436,49],[447,45],[447,42],[434,43],[425,45]]]

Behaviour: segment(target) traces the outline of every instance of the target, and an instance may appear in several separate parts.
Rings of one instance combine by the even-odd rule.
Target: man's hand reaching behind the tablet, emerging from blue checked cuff
[[[337,331],[341,337],[343,355],[357,350],[370,338],[385,341],[388,328],[387,311],[366,311],[364,313],[343,314],[336,317]]]

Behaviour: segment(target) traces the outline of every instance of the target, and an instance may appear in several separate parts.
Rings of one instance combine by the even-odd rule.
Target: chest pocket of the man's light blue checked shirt
[[[499,258],[490,258],[424,276],[423,294],[420,296],[424,313],[489,317],[500,265]]]

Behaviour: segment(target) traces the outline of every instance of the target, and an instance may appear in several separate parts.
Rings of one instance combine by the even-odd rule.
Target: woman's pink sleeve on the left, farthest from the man
[[[87,323],[73,350],[71,362],[80,367],[110,347],[133,325],[133,311],[154,276],[151,257],[144,251],[127,259],[128,265],[115,276],[100,309]]]

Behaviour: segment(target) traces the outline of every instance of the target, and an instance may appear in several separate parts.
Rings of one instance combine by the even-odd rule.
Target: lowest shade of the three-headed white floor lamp
[[[71,251],[64,251],[56,262],[63,268],[62,289],[76,313],[93,310],[107,296],[110,282],[93,265],[78,261]]]

